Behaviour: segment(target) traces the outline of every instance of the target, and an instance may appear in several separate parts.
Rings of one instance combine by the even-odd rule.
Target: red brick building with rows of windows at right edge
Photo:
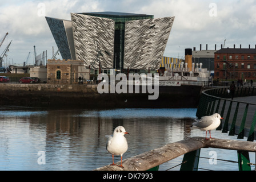
[[[214,55],[215,78],[256,80],[256,47],[222,48]]]

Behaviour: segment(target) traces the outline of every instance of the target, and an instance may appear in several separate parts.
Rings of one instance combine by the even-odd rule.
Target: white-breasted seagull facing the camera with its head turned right
[[[127,140],[125,138],[125,134],[129,134],[125,131],[125,128],[123,126],[118,126],[115,128],[113,135],[108,136],[109,140],[107,140],[106,144],[106,150],[112,154],[113,163],[110,164],[111,166],[118,166],[114,163],[114,155],[121,155],[121,165],[119,167],[122,167],[122,160],[123,160],[123,154],[128,149]]]

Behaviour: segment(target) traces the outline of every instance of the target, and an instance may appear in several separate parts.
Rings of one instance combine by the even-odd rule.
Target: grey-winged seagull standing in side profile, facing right
[[[223,119],[221,115],[215,113],[210,116],[202,117],[199,120],[195,119],[197,122],[193,123],[193,127],[201,129],[201,131],[205,130],[205,139],[208,140],[209,138],[207,138],[207,131],[209,131],[211,138],[211,130],[217,129],[217,127],[221,124],[221,119]]]

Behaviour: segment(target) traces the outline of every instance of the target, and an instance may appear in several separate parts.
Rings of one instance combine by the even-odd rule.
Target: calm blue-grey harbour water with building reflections
[[[114,109],[40,110],[2,107],[0,109],[0,170],[93,170],[112,162],[106,151],[105,135],[122,125],[130,135],[123,159],[177,142],[187,137],[205,137],[191,130],[197,109]],[[212,137],[237,139],[213,131]],[[244,139],[246,140],[246,139]],[[201,156],[237,161],[237,152],[203,148]],[[182,162],[183,156],[160,166],[166,170]],[[255,162],[255,154],[250,154]],[[45,159],[45,160],[43,160]],[[120,160],[115,156],[115,162]],[[199,167],[212,170],[238,170],[237,163],[200,159]],[[171,170],[179,170],[180,166]],[[254,167],[253,167],[254,169]]]

